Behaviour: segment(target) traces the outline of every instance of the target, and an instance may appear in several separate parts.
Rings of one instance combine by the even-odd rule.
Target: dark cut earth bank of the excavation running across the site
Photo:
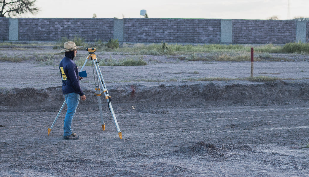
[[[213,104],[292,104],[309,100],[309,83],[275,81],[265,83],[234,83],[218,84],[160,84],[146,86],[143,84],[128,84],[109,87],[109,95],[116,104],[130,102],[145,103],[203,103]],[[97,108],[98,102],[94,91],[84,89],[87,100],[79,107]],[[64,97],[61,87],[46,89],[14,88],[0,89],[1,111],[34,111],[57,110],[61,107]],[[103,99],[103,98],[102,98]],[[104,103],[104,102],[103,102]]]

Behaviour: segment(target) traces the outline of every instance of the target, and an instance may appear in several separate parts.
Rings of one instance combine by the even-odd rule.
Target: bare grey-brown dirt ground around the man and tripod
[[[104,100],[102,131],[89,75],[72,141],[63,139],[66,106],[47,135],[64,101],[58,68],[0,62],[9,76],[0,83],[0,175],[308,176],[307,65],[257,63],[257,75],[298,79],[266,83],[182,80],[249,76],[245,62],[100,67],[123,138]]]

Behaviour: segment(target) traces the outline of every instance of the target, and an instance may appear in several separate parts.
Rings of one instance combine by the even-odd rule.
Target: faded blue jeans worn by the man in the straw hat
[[[66,117],[64,118],[63,125],[63,136],[69,136],[72,134],[71,124],[73,116],[76,112],[76,108],[79,102],[79,94],[77,93],[68,93],[64,95],[66,99],[66,105],[68,106],[68,110],[66,111]]]

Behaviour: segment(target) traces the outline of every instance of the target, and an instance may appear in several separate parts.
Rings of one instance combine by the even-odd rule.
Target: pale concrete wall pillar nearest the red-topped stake
[[[232,20],[221,20],[221,43],[232,43],[233,42],[233,21]]]

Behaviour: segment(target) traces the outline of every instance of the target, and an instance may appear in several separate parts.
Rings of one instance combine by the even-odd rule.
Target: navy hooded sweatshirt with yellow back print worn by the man
[[[78,93],[83,96],[83,91],[79,85],[78,68],[73,62],[74,51],[65,52],[65,57],[59,64],[59,69],[62,78],[62,93]]]

